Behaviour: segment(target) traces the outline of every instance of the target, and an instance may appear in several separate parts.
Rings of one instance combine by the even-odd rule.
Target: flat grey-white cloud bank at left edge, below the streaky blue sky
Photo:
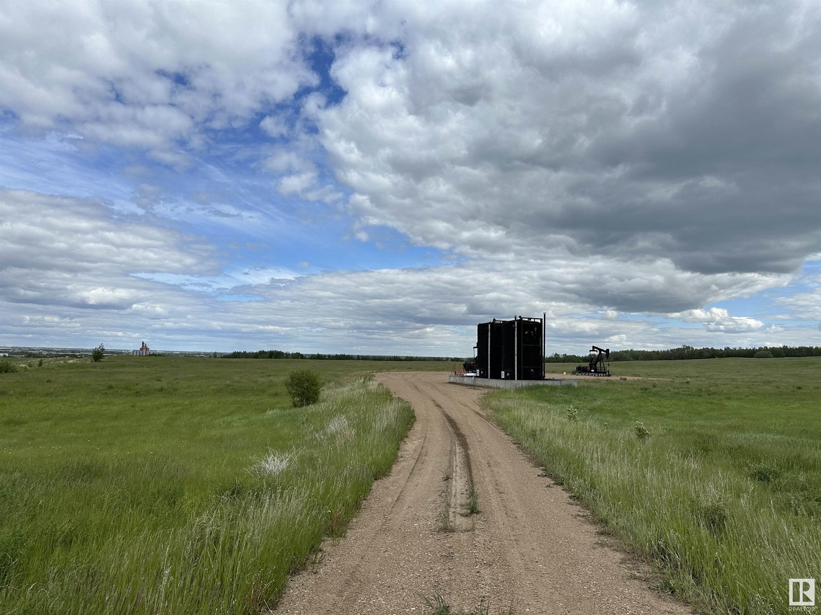
[[[138,271],[213,271],[211,250],[159,225],[118,218],[93,200],[0,189],[5,301],[131,307],[150,294]]]

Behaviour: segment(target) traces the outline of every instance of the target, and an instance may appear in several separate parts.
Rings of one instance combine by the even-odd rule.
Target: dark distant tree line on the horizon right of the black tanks
[[[693,348],[680,346],[667,350],[611,350],[611,361],[677,361],[695,358],[782,358],[821,357],[821,346],[761,346],[759,348]],[[589,354],[553,353],[544,359],[548,363],[588,362]]]

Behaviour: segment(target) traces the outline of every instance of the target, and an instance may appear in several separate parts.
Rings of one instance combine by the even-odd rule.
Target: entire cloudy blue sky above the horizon
[[[817,2],[0,4],[0,345],[821,345]]]

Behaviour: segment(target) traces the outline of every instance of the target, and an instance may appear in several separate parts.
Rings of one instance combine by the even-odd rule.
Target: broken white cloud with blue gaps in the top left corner
[[[0,107],[185,164],[209,130],[243,125],[316,76],[285,2],[83,1],[0,8]],[[273,127],[267,125],[268,128]]]

